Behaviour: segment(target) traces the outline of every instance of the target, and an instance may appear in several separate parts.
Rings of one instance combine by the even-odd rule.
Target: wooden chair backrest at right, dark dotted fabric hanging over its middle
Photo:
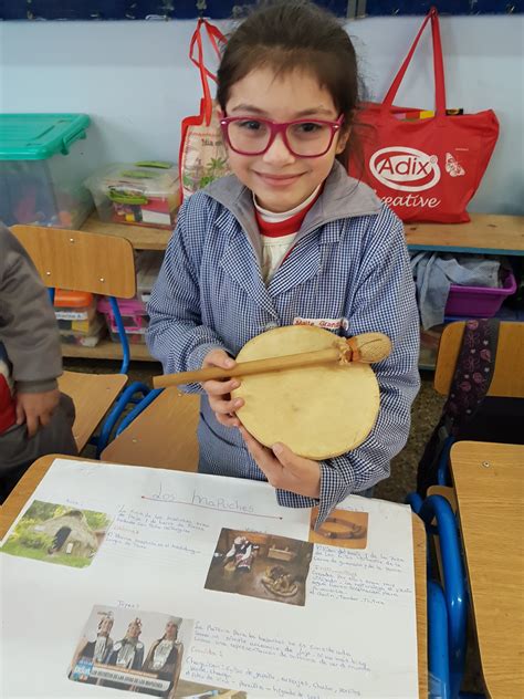
[[[463,321],[450,323],[440,337],[434,388],[444,396],[450,390],[464,326]],[[495,372],[488,395],[524,398],[524,323],[500,324]]]

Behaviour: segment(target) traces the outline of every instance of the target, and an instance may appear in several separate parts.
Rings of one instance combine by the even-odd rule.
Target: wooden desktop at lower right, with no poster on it
[[[459,441],[451,472],[486,691],[524,697],[524,446]]]

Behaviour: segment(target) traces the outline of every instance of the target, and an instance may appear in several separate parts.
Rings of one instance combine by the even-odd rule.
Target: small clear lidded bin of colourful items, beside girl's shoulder
[[[180,204],[170,163],[117,163],[85,181],[103,221],[171,229]]]

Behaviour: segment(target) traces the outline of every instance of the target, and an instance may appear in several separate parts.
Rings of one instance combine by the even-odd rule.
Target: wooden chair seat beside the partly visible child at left
[[[126,382],[125,374],[64,372],[59,378],[60,390],[73,399],[76,409],[73,435],[78,451],[85,447]]]

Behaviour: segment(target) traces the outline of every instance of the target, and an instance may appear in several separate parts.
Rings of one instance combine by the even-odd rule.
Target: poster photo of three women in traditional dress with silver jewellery
[[[192,619],[95,605],[74,649],[67,677],[175,699]]]

